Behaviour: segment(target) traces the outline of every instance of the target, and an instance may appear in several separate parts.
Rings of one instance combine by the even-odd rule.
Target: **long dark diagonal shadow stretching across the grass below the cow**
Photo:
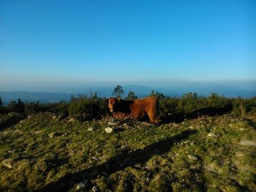
[[[143,149],[135,151],[124,150],[120,155],[110,158],[106,163],[99,164],[98,166],[84,169],[73,174],[67,174],[53,183],[48,183],[39,191],[69,191],[74,187],[75,183],[83,179],[91,180],[97,177],[101,172],[105,172],[106,176],[127,168],[128,166],[135,166],[135,164],[146,163],[154,155],[162,155],[171,150],[175,142],[180,142],[187,139],[192,134],[196,134],[195,130],[182,131],[181,134],[175,137],[170,137],[148,145]]]

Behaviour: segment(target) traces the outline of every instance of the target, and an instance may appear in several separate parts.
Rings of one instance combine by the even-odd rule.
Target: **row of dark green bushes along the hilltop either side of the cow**
[[[159,98],[159,119],[162,122],[181,122],[185,119],[198,118],[202,115],[223,115],[232,112],[233,115],[244,116],[248,112],[256,112],[256,96],[251,99],[226,98],[212,93],[210,96],[198,96],[197,93],[186,93],[181,97],[165,97],[162,93],[152,91],[151,96]],[[111,115],[105,99],[94,96],[79,96],[69,102],[56,104],[24,103],[20,99],[11,101],[3,107],[0,98],[0,112],[18,112],[31,115],[38,112],[53,112],[59,118],[68,116],[80,120],[91,120]]]

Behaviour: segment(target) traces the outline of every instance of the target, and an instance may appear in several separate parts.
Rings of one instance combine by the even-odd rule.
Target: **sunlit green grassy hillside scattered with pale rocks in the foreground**
[[[0,191],[256,191],[255,117],[154,126],[29,115],[0,129]]]

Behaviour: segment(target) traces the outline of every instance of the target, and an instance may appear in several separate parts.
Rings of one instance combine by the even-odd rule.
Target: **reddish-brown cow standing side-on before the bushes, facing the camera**
[[[157,123],[158,99],[155,96],[149,96],[144,99],[122,100],[116,98],[108,99],[108,107],[110,112],[113,112],[120,117],[129,115],[131,118],[142,119],[148,116],[151,123]]]

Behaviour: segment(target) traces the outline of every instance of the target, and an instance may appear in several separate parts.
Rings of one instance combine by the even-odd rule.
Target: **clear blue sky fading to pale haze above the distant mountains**
[[[256,1],[0,0],[0,85],[136,80],[256,80]]]

